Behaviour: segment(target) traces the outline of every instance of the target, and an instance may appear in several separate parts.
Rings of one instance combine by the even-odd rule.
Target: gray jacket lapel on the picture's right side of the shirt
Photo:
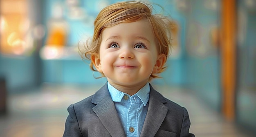
[[[164,97],[150,85],[148,113],[140,137],[153,137],[157,133],[168,111],[165,102]]]

